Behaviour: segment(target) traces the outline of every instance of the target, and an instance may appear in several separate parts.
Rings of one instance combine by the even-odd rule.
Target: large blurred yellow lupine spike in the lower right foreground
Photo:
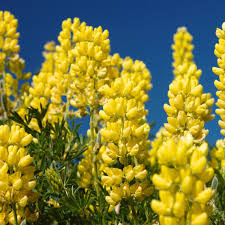
[[[159,190],[160,200],[151,202],[161,225],[209,225],[213,195],[209,182],[214,170],[207,163],[206,142],[195,147],[187,134],[178,142],[168,139],[158,150],[160,174],[152,182]]]

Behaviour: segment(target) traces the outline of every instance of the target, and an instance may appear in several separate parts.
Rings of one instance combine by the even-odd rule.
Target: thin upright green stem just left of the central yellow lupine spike
[[[94,131],[94,124],[95,124],[95,113],[96,110],[91,108],[90,109],[90,130],[91,130],[91,148],[92,148],[92,164],[94,169],[94,186],[95,190],[97,192],[97,198],[99,197],[99,186],[98,186],[98,173],[97,173],[97,149],[95,148],[95,131]]]

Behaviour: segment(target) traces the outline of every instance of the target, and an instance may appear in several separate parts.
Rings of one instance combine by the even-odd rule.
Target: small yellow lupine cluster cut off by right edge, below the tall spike
[[[225,143],[220,139],[216,141],[216,146],[210,152],[211,166],[215,169],[225,168]]]

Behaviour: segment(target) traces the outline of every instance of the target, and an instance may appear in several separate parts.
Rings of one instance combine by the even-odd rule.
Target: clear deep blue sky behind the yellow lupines
[[[171,44],[177,27],[186,26],[194,36],[194,55],[203,70],[200,82],[205,92],[215,96],[211,67],[217,41],[215,30],[225,21],[224,0],[9,0],[1,1],[1,10],[9,10],[19,20],[21,56],[27,70],[35,72],[43,61],[43,45],[57,40],[61,22],[79,17],[88,25],[110,32],[112,53],[143,60],[152,74],[149,121],[157,123],[153,132],[166,122],[163,104],[168,102],[168,86],[173,79]],[[216,97],[216,96],[215,96]],[[211,144],[222,136],[218,116],[210,122],[208,140]]]

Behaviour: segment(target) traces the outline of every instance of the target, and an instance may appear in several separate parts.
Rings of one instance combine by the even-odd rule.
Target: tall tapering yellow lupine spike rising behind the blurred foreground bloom
[[[160,146],[170,137],[177,140],[191,133],[194,142],[201,144],[208,134],[204,124],[214,118],[211,114],[214,99],[209,93],[203,93],[203,87],[199,84],[202,71],[197,69],[193,61],[191,41],[192,36],[187,29],[178,28],[172,45],[175,78],[169,85],[169,104],[164,104],[164,110],[168,115],[167,123],[164,124],[164,129],[161,129],[160,135],[152,142],[149,159],[152,165],[157,161]],[[184,160],[179,160],[177,163],[186,164],[184,154],[184,149],[182,150],[181,147],[176,157]],[[160,160],[169,160],[170,157],[170,154],[160,153]],[[204,159],[198,163],[202,163],[204,167]],[[197,162],[195,164],[197,168],[200,168]]]

